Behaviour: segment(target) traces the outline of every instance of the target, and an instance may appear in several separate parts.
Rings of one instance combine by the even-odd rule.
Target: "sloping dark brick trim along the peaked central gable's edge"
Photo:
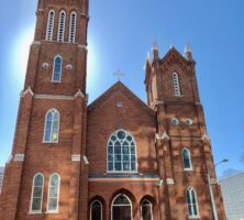
[[[144,109],[147,113],[154,116],[155,112],[145,105],[137,96],[135,96],[124,84],[121,81],[115,82],[112,87],[110,87],[104,94],[98,97],[93,102],[88,106],[88,111],[95,111],[99,108],[106,100],[108,100],[114,94],[122,92],[130,100],[136,103],[140,108]]]

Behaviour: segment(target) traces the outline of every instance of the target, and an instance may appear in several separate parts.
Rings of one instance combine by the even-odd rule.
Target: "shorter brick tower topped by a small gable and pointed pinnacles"
[[[162,219],[225,219],[191,50],[187,45],[182,56],[171,47],[160,58],[154,43],[152,52],[153,58],[146,58],[145,86],[147,103],[157,116],[158,173],[165,182],[159,186]]]

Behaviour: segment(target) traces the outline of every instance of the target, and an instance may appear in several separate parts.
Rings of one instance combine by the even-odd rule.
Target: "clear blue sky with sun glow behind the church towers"
[[[36,0],[8,0],[0,8],[0,166],[8,160],[23,88]],[[144,61],[153,40],[164,56],[189,42],[218,175],[244,170],[243,0],[90,0],[89,101],[115,82],[113,72],[145,101]],[[243,157],[243,162],[241,162]]]

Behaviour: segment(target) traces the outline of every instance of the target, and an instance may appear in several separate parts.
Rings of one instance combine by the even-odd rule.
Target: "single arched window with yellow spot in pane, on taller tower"
[[[59,112],[56,109],[51,109],[46,112],[44,142],[57,142],[59,131]]]

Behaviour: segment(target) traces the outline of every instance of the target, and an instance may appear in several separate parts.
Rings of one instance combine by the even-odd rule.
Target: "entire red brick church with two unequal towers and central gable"
[[[88,105],[88,6],[38,0],[0,219],[225,220],[191,50]]]

